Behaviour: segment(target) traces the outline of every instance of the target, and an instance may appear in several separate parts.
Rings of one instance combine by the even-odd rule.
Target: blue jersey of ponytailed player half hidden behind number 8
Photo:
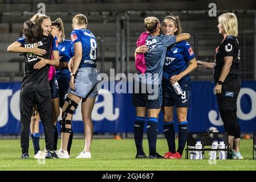
[[[58,43],[58,50],[59,50],[59,57],[60,61],[63,63],[67,63],[70,61],[71,57],[74,56],[73,51],[73,44],[71,40],[65,40],[63,42]],[[67,67],[64,67],[58,71],[56,71],[56,77],[57,79],[61,76],[67,76],[70,77],[70,71],[68,70]]]

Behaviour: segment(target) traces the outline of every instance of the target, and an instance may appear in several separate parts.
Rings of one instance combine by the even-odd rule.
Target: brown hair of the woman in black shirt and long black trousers
[[[23,24],[23,35],[27,43],[36,43],[43,37],[39,27],[36,26],[36,23],[31,19]]]

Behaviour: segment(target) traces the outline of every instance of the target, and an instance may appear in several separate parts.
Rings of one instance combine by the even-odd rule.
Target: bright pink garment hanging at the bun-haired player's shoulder
[[[137,40],[137,47],[145,45],[148,35],[149,35],[149,32],[143,32],[140,35],[140,38]],[[144,53],[137,53],[136,59],[135,59],[135,68],[137,69],[137,71],[141,73],[146,72],[147,67],[145,64]]]

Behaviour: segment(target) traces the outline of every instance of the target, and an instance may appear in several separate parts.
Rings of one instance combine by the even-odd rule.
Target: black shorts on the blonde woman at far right
[[[237,110],[237,97],[241,89],[241,80],[225,80],[221,94],[217,94],[219,110]]]

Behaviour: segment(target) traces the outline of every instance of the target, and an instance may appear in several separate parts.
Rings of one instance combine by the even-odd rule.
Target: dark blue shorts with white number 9
[[[182,89],[182,94],[177,95],[173,89],[172,84],[170,84],[169,80],[164,79],[163,85],[163,106],[170,107],[189,107],[191,101],[191,90],[190,90],[190,82],[186,80],[178,81]]]

